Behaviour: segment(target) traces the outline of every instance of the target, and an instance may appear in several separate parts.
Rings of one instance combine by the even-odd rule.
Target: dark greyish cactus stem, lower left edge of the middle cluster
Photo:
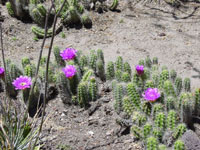
[[[70,90],[69,81],[62,72],[58,73],[56,84],[63,103],[71,104],[72,92]]]

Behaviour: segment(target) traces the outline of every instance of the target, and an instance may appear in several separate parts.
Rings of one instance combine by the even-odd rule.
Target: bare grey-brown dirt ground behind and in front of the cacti
[[[57,35],[54,45],[61,49],[73,47],[86,53],[102,49],[105,61],[123,56],[133,67],[146,56],[158,57],[160,65],[175,69],[181,77],[190,77],[192,89],[200,87],[200,4],[189,3],[174,9],[166,3],[134,5],[131,0],[120,0],[121,12],[90,12],[91,29],[64,29],[66,38]],[[20,62],[24,56],[37,60],[42,40],[33,40],[31,23],[11,18],[5,6],[4,46],[6,57]],[[45,44],[45,55],[49,47]],[[103,86],[103,85],[102,85]],[[48,103],[42,141],[47,150],[137,150],[129,134],[117,136],[119,129],[113,111],[111,93],[105,93],[97,111],[89,116],[75,106],[64,106],[56,98]],[[95,103],[98,103],[99,100]],[[64,147],[65,146],[65,147]]]

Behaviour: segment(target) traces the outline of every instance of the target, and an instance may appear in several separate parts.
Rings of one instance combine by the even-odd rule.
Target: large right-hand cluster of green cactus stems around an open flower
[[[200,91],[192,94],[190,79],[182,80],[175,70],[169,71],[166,66],[160,70],[156,57],[138,64],[144,66],[143,72],[137,67],[135,72],[125,69],[130,67],[123,64],[122,57],[107,64],[106,77],[114,84],[116,112],[129,116],[131,133],[144,142],[147,150],[184,149],[180,138],[192,125],[193,115],[199,115]],[[132,78],[123,79],[124,72]],[[158,98],[148,100],[145,94],[149,89],[156,89]]]

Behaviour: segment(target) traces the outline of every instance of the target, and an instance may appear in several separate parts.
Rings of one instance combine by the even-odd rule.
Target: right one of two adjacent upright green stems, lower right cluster
[[[174,110],[170,110],[167,116],[167,128],[173,130],[177,121],[177,114]]]

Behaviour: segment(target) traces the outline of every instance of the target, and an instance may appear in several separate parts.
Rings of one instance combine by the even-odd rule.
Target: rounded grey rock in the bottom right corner
[[[200,139],[192,130],[186,131],[181,140],[184,142],[186,150],[200,150]]]

